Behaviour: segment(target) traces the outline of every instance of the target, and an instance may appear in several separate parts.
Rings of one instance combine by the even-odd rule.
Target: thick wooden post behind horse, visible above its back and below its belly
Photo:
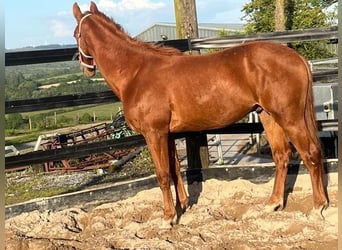
[[[198,38],[198,24],[195,0],[174,0],[177,38]],[[191,52],[191,48],[189,48]],[[193,76],[196,77],[196,76]],[[207,168],[209,150],[207,135],[198,133],[186,137],[188,168]]]

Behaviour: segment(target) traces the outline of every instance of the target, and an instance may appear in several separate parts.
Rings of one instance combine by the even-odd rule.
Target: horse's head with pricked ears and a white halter
[[[86,76],[94,76],[96,73],[96,63],[93,55],[89,52],[89,46],[87,44],[86,30],[83,29],[82,23],[90,18],[92,14],[97,13],[98,9],[94,2],[91,2],[90,12],[83,14],[77,3],[73,5],[73,14],[77,21],[77,26],[74,31],[74,37],[78,46],[78,58],[81,68]]]

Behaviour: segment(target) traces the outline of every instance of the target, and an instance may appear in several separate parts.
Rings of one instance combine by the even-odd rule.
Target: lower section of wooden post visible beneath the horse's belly
[[[185,140],[188,169],[209,167],[207,135],[205,133],[198,133],[186,137]]]

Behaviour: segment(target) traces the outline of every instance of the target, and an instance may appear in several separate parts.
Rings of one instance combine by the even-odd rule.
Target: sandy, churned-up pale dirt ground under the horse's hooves
[[[30,212],[7,219],[6,249],[337,249],[337,173],[329,174],[325,219],[311,217],[308,175],[297,176],[287,206],[266,213],[273,180],[207,180],[187,187],[190,207],[160,230],[159,188],[97,206]]]

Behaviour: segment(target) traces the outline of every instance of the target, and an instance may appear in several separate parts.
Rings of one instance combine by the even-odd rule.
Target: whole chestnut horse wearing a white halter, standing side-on
[[[75,3],[73,14],[84,73],[101,71],[127,123],[146,139],[163,195],[162,227],[171,227],[188,203],[173,133],[225,127],[256,109],[276,164],[267,210],[283,206],[291,141],[310,172],[313,210],[321,214],[328,202],[312,77],[300,55],[281,44],[251,42],[190,56],[132,39],[93,2],[86,13]]]

